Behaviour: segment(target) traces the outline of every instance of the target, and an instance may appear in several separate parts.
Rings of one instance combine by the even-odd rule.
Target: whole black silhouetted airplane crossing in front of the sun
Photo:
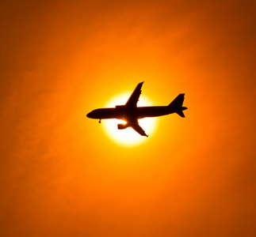
[[[128,127],[132,127],[133,130],[136,130],[137,133],[145,137],[148,137],[148,135],[145,133],[143,128],[139,126],[138,119],[170,115],[173,113],[185,118],[183,111],[185,111],[187,107],[182,107],[185,94],[179,94],[167,106],[137,107],[143,82],[140,82],[136,86],[132,95],[124,105],[117,105],[116,107],[110,108],[99,108],[91,111],[86,116],[90,119],[99,119],[99,123],[101,123],[101,119],[122,119],[126,124],[117,124],[118,130],[124,130]]]

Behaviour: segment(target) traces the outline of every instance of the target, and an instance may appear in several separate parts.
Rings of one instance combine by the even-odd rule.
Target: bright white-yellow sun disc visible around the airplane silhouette
[[[108,103],[105,104],[105,107],[116,107],[116,105],[123,105],[128,100],[129,96],[131,96],[131,92],[123,92],[117,96],[114,96]],[[142,106],[152,106],[153,103],[151,100],[147,99],[146,96],[140,96],[139,101],[137,103],[138,107]],[[101,120],[101,124],[104,127],[105,134],[111,138],[118,145],[132,147],[141,145],[143,142],[151,139],[154,134],[157,126],[157,118],[145,118],[139,119],[139,126],[143,128],[146,134],[149,134],[149,137],[143,137],[138,134],[131,127],[128,127],[125,130],[118,130],[118,123],[126,123],[124,120],[120,119],[104,119]]]

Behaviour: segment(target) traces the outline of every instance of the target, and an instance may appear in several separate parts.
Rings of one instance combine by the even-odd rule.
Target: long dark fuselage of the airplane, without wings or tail
[[[91,111],[87,117],[90,119],[143,119],[146,117],[158,117],[174,113],[168,106],[136,107],[129,109],[125,106],[100,108]]]

